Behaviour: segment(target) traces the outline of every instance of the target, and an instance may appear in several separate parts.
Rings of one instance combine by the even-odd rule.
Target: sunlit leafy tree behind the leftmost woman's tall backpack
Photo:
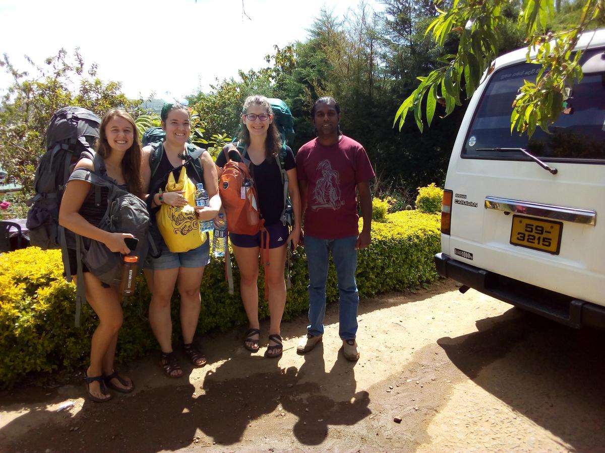
[[[136,111],[142,100],[129,100],[119,82],[99,80],[97,65],[85,67],[78,49],[73,59],[61,49],[42,66],[27,60],[32,75],[16,69],[7,54],[0,61],[13,79],[0,101],[0,165],[31,191],[38,158],[45,150],[46,128],[57,109],[74,105],[102,116],[112,108]]]

